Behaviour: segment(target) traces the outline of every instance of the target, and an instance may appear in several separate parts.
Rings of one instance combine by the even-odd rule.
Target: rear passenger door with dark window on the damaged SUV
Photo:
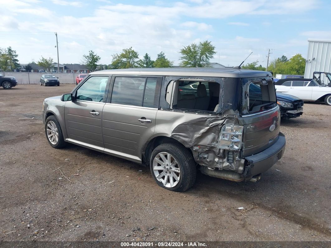
[[[162,77],[113,76],[103,109],[105,153],[141,162],[141,149],[154,133]]]

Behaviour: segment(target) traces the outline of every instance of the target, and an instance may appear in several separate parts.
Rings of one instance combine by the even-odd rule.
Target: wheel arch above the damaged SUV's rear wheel
[[[152,139],[150,139],[149,141],[147,141],[142,149],[142,164],[145,166],[149,166],[149,161],[150,161],[150,157],[152,155],[153,150],[163,144],[163,143],[176,143],[176,144],[180,144],[182,145],[185,149],[187,149],[188,151],[190,151],[190,153],[192,154],[191,149],[186,148],[181,142],[179,142],[178,140],[176,140],[175,138],[166,136],[166,135],[159,135],[156,137],[153,137]],[[193,156],[193,154],[192,154]]]

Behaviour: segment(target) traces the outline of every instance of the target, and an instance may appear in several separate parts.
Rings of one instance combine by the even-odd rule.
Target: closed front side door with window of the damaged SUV
[[[67,141],[103,151],[102,110],[108,76],[89,77],[65,105]]]

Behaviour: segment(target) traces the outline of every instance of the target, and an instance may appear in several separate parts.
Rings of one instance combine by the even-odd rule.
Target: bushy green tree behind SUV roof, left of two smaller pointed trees
[[[113,69],[137,68],[139,67],[139,53],[132,49],[132,47],[123,49],[120,54],[112,55]]]

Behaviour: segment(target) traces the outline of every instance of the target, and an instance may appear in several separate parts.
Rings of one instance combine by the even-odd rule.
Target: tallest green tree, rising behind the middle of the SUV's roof
[[[211,41],[205,40],[199,42],[199,44],[192,43],[179,52],[182,56],[179,58],[182,60],[180,63],[184,67],[208,67],[209,61],[214,57],[215,46],[211,44]]]

